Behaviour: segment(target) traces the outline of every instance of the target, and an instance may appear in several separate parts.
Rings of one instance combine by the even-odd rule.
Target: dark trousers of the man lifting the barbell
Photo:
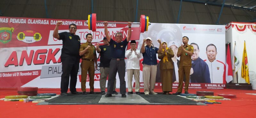
[[[116,80],[116,73],[118,71],[118,76],[120,79],[120,93],[126,93],[126,84],[125,84],[125,61],[116,59],[111,59],[109,66],[109,75],[108,75],[108,94],[113,94],[114,82]]]

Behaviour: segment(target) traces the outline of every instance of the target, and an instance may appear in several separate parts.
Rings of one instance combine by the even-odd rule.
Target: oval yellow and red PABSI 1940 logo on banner
[[[25,43],[34,43],[42,39],[42,35],[34,30],[25,30],[17,34],[17,39]]]

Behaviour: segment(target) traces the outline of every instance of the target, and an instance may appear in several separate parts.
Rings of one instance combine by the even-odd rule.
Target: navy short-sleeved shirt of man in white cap
[[[157,65],[156,53],[158,48],[150,46],[145,46],[145,52],[142,53],[143,55],[143,64],[146,65]]]

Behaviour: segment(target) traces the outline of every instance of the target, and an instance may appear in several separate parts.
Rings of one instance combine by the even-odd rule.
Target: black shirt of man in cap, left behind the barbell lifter
[[[111,46],[100,45],[100,67],[109,67],[111,61]]]

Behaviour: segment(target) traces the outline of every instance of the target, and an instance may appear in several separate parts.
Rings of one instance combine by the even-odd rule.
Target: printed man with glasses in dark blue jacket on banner
[[[193,74],[190,75],[191,83],[211,83],[209,67],[203,59],[199,57],[199,46],[196,43],[191,43],[194,47],[192,58]]]

